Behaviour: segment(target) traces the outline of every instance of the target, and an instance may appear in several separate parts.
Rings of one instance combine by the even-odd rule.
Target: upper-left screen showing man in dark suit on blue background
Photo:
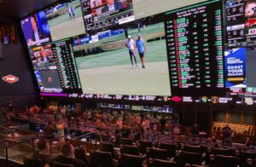
[[[20,22],[28,47],[50,42],[49,26],[44,11],[32,14]]]

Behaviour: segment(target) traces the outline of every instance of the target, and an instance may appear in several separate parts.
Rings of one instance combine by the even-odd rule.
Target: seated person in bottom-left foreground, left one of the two
[[[38,141],[38,152],[34,153],[32,158],[41,159],[43,166],[50,164],[54,160],[54,158],[49,155],[46,141]]]

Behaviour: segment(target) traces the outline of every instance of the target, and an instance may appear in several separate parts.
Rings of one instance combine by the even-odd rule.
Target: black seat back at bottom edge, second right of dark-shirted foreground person
[[[143,159],[140,156],[122,154],[120,158],[121,167],[143,167]]]

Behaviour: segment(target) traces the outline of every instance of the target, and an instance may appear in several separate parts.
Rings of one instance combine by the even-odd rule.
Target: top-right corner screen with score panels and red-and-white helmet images
[[[225,2],[226,48],[237,49],[256,45],[256,1]]]

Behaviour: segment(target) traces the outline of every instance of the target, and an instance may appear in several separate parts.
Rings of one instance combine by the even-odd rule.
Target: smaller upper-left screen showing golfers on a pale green
[[[46,9],[49,31],[53,41],[85,33],[79,0],[58,3]]]

